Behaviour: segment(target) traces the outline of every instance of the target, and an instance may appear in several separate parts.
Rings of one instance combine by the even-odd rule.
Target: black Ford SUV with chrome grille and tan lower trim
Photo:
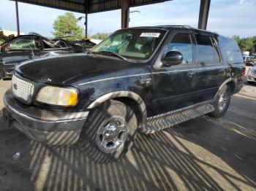
[[[129,150],[137,131],[223,116],[243,78],[233,39],[189,26],[127,28],[87,55],[16,66],[4,117],[30,139],[78,142],[93,160],[108,163]]]

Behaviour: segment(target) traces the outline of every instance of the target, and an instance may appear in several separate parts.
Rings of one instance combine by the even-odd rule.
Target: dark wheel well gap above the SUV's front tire
[[[138,124],[143,123],[143,114],[140,112],[140,107],[137,101],[128,97],[118,97],[118,98],[112,98],[112,99],[116,101],[120,101],[123,104],[126,104],[127,106],[129,106],[132,109],[132,111],[135,112],[135,116],[137,118]]]

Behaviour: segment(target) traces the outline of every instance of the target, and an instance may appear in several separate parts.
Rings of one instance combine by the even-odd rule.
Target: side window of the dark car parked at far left
[[[34,37],[20,37],[9,43],[9,49],[35,49]]]

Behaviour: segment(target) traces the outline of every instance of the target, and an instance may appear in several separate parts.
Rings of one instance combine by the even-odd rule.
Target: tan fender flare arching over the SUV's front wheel
[[[131,91],[116,91],[116,92],[111,92],[111,93],[102,95],[99,98],[97,98],[95,101],[93,101],[87,107],[87,109],[93,109],[94,107],[99,106],[99,104],[102,104],[103,102],[108,101],[111,98],[121,98],[121,97],[131,98],[132,100],[137,102],[140,109],[140,113],[142,115],[142,124],[140,124],[140,126],[143,127],[143,125],[146,125],[146,119],[147,119],[146,104],[144,103],[140,95]]]

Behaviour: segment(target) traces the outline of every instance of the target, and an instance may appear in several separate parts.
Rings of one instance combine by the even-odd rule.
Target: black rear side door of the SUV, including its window
[[[208,34],[195,34],[196,63],[198,66],[198,102],[214,98],[225,74],[225,66],[217,39]]]

